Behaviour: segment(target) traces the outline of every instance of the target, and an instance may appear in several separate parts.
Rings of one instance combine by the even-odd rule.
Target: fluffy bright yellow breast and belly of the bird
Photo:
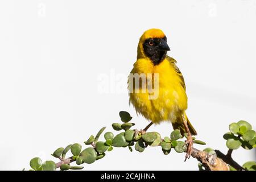
[[[130,103],[136,111],[154,123],[176,122],[180,111],[187,109],[187,95],[175,68],[167,59],[158,65],[152,64],[149,59],[138,59],[129,77],[134,73],[146,75],[146,82],[142,81],[139,88],[135,88],[134,82],[131,84],[129,79]],[[153,90],[148,89],[149,84],[153,85]],[[143,92],[144,88],[146,92]]]

